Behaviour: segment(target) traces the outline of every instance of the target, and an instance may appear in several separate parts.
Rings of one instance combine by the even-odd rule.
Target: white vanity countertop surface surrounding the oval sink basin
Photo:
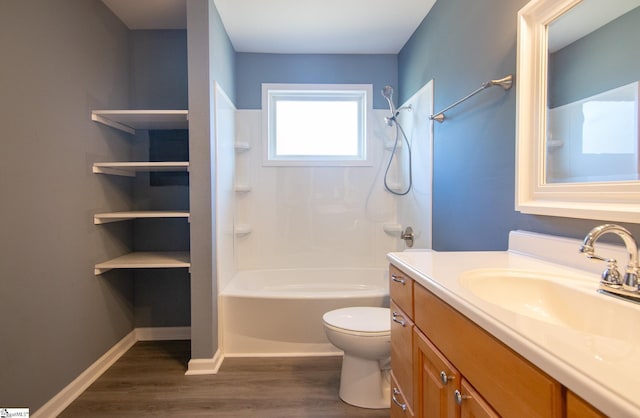
[[[573,251],[577,252],[576,248]],[[629,321],[636,324],[628,331],[633,337],[618,339],[516,314],[479,298],[459,281],[463,272],[472,269],[518,269],[559,275],[576,291],[595,293],[598,274],[514,251],[424,250],[389,253],[387,258],[418,284],[603,413],[612,417],[640,417],[640,305],[596,294],[612,301],[613,312],[606,312],[606,317],[615,318],[617,306],[627,309],[629,305],[635,309],[632,314],[638,315],[637,321]],[[584,309],[587,312],[590,307]]]

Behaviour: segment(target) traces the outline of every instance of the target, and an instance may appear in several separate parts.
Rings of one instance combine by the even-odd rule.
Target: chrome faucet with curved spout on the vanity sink
[[[620,275],[617,261],[613,258],[604,258],[595,254],[594,245],[602,235],[612,233],[618,235],[624,241],[624,245],[629,255],[629,261],[625,268],[624,276]],[[580,252],[587,258],[600,260],[607,263],[607,268],[602,272],[600,280],[600,290],[614,293],[636,301],[640,301],[640,285],[638,275],[640,265],[638,265],[638,244],[626,228],[614,224],[604,224],[593,228],[584,238],[580,246]]]

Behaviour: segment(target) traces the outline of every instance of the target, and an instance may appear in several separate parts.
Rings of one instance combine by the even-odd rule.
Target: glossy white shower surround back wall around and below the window
[[[261,111],[239,110],[236,152],[235,252],[239,270],[297,267],[384,267],[398,236],[396,201],[384,191],[393,130],[388,111],[373,110],[368,124],[371,167],[263,167]],[[241,234],[242,229],[250,229]]]

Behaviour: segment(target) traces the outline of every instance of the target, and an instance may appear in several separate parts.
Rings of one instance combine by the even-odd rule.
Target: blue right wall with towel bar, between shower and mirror
[[[435,80],[436,110],[516,74],[516,15],[527,0],[438,1],[400,51],[400,102]],[[513,229],[583,237],[602,221],[514,210],[516,89],[490,89],[434,126],[433,246],[502,250]],[[640,236],[637,225],[629,229]]]

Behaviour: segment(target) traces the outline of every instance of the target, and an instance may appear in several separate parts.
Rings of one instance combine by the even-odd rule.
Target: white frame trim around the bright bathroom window
[[[269,115],[270,92],[296,92],[296,91],[334,91],[348,92],[360,91],[364,92],[364,120],[361,121],[361,129],[363,135],[362,158],[344,158],[324,156],[321,159],[310,158],[271,158],[269,135],[271,129],[271,121]],[[262,165],[264,166],[371,166],[370,139],[368,135],[367,125],[371,119],[373,109],[373,86],[371,84],[262,84]],[[330,123],[330,122],[327,122]]]

